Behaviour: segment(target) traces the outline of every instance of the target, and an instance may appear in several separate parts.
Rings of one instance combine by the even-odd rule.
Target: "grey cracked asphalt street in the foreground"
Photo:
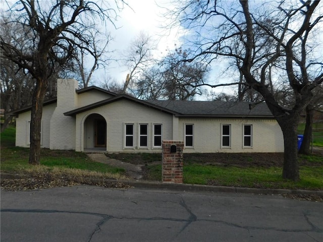
[[[75,186],[1,192],[1,241],[323,241],[323,204]]]

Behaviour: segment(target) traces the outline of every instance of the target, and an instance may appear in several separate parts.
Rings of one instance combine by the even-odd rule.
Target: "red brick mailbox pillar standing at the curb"
[[[183,141],[163,141],[163,183],[183,183]]]

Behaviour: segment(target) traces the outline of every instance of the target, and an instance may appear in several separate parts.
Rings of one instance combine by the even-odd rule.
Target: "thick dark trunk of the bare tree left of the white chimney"
[[[29,164],[40,164],[40,139],[41,139],[41,116],[42,105],[46,93],[46,81],[37,80],[33,94],[30,120],[30,152]]]

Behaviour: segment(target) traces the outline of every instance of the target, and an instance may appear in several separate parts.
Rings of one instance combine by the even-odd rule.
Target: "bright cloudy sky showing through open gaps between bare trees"
[[[16,0],[8,1],[16,2]],[[45,1],[47,0],[43,0],[43,2]],[[179,33],[182,33],[184,29],[179,31],[178,29],[167,30],[162,28],[162,26],[168,25],[167,21],[169,20],[163,18],[163,11],[165,11],[165,9],[160,6],[172,8],[170,5],[171,0],[129,0],[127,2],[130,7],[125,6],[125,8],[118,13],[119,18],[115,21],[117,29],[110,26],[110,29],[108,30],[113,37],[113,41],[108,47],[110,51],[114,50],[113,53],[110,53],[111,58],[122,59],[123,53],[140,32],[144,32],[158,40],[157,49],[155,51],[156,58],[161,58],[166,55],[168,51],[174,50],[175,44],[181,46],[181,37],[183,37],[183,35]],[[0,0],[0,4],[2,5],[3,3],[4,0]],[[0,6],[0,8],[3,7],[4,5]],[[320,35],[320,38],[323,39],[323,35]],[[225,76],[221,76],[221,73],[225,69],[225,65],[215,63],[215,66],[216,68],[213,68],[212,73],[209,74],[210,78],[208,83],[225,83]],[[214,69],[217,69],[217,74],[214,74]],[[119,63],[110,62],[109,67],[106,70],[100,69],[95,71],[92,76],[92,84],[99,86],[107,77],[118,83],[124,83],[129,72],[130,70],[128,70],[121,61]],[[213,91],[216,91],[217,93],[232,93],[232,88],[216,88],[213,89]]]

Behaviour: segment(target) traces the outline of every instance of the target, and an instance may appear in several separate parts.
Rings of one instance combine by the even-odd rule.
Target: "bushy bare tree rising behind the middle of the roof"
[[[187,63],[181,60],[186,51],[178,48],[170,51],[159,63],[145,69],[139,76],[134,93],[138,98],[192,100],[202,95],[202,85],[208,73],[203,63]]]

